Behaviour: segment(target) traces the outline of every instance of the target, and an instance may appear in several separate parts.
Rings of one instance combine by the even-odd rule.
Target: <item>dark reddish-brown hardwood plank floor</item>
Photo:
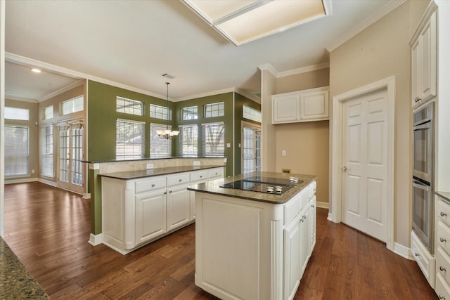
[[[437,299],[415,261],[317,212],[295,299]],[[194,284],[195,224],[126,256],[88,244],[90,202],[44,183],[5,185],[4,239],[51,299],[217,299]]]

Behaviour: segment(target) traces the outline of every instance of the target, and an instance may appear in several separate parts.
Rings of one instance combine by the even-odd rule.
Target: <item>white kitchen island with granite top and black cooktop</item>
[[[293,299],[316,241],[315,179],[260,172],[191,185],[195,285],[221,299]]]

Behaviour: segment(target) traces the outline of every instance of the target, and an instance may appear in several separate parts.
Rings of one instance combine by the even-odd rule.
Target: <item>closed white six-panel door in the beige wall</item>
[[[387,89],[347,100],[342,118],[342,221],[387,240]]]

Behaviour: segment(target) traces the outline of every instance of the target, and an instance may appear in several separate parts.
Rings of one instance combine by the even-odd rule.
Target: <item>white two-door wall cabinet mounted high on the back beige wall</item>
[[[272,96],[272,124],[328,119],[328,86]]]

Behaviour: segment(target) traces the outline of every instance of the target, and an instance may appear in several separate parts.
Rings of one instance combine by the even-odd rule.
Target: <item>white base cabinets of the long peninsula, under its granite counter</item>
[[[195,206],[191,207],[191,191],[187,189],[191,174],[193,180],[200,181],[212,171],[215,178],[223,176],[223,169],[136,179],[102,176],[103,244],[127,254],[188,225],[195,220]]]

